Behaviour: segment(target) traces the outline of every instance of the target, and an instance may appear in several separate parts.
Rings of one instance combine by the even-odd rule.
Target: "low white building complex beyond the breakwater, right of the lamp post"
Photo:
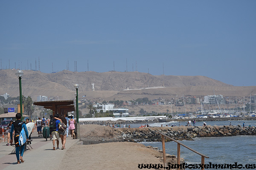
[[[114,104],[97,104],[97,105],[93,105],[93,107],[96,108],[97,112],[103,111],[103,112],[107,112],[107,111],[112,111],[113,115],[115,117],[126,117],[129,116],[129,109],[125,109],[125,108],[115,108]]]

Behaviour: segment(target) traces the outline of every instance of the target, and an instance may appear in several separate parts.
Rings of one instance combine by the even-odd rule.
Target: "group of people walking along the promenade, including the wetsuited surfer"
[[[26,119],[26,122],[21,121],[20,113],[17,113],[15,117],[17,120],[15,122],[11,121],[7,127],[8,138],[7,138],[6,145],[12,144],[12,142],[14,140],[15,147],[16,147],[15,152],[16,152],[16,157],[17,157],[17,164],[20,164],[20,162],[24,162],[23,154],[24,154],[25,144],[20,146],[19,136],[20,136],[21,130],[24,129],[25,133],[26,133],[26,139],[24,139],[24,140],[26,140],[26,142],[31,141],[31,140],[29,140],[31,137],[31,134],[30,135],[28,134],[28,130],[26,127],[26,124],[29,123],[30,121],[29,121],[29,119]],[[61,149],[64,150],[64,149],[66,149],[65,144],[66,144],[66,138],[68,137],[68,135],[71,134],[73,139],[75,139],[75,137],[76,137],[76,135],[74,133],[76,121],[73,119],[73,116],[66,115],[66,117],[65,117],[64,115],[55,114],[54,116],[51,115],[50,119],[45,119],[43,117],[42,120],[40,117],[38,117],[38,120],[35,121],[35,124],[37,127],[38,137],[42,136],[42,128],[44,126],[49,127],[51,139],[53,139],[52,140],[53,150],[59,149],[59,138],[61,138],[61,144],[62,144]],[[51,125],[54,125],[54,126],[51,127]],[[65,127],[65,129],[62,131],[59,130],[60,125],[63,125]],[[69,131],[70,131],[70,133],[69,133]],[[57,143],[57,147],[55,147],[55,141]],[[31,142],[30,142],[30,144],[31,144]]]

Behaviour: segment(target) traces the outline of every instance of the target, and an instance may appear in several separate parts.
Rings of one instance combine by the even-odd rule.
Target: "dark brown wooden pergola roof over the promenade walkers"
[[[68,112],[75,111],[73,100],[34,102],[34,105],[44,106],[46,109],[51,109],[52,115],[55,115],[56,113],[59,115],[66,115]]]

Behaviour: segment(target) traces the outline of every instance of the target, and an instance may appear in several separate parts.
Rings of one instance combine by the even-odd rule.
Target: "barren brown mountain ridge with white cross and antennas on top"
[[[19,81],[15,70],[0,70],[0,94],[19,96]],[[42,73],[39,71],[23,71],[22,94],[31,96],[33,100],[41,96],[58,96],[60,100],[74,99],[74,84],[79,84],[79,98],[86,95],[87,99],[121,99],[130,100],[139,97],[155,99],[174,96],[191,95],[204,96],[222,94],[226,96],[250,96],[256,94],[256,86],[237,87],[228,85],[204,76],[154,76],[140,72],[110,71],[97,73],[60,71],[57,73]],[[94,83],[95,91],[92,91]],[[165,88],[151,88],[161,87]],[[148,88],[149,89],[143,89]],[[125,90],[124,89],[141,89]]]

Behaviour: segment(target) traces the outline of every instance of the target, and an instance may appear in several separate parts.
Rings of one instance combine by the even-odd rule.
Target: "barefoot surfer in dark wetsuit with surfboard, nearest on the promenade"
[[[15,147],[16,147],[17,164],[20,164],[20,161],[24,162],[22,156],[23,156],[23,153],[24,153],[25,142],[29,139],[29,133],[28,133],[28,130],[26,128],[26,124],[20,120],[21,119],[21,114],[20,113],[16,114],[16,119],[17,120],[15,122],[13,122],[12,128],[11,128],[10,143],[12,144],[12,133],[13,133],[13,130],[14,130],[15,131],[14,142],[15,142]],[[23,128],[24,128],[26,136],[22,135],[23,145],[20,146],[20,141],[19,141],[20,132],[23,130]],[[25,139],[24,139],[24,137],[25,137]],[[20,150],[20,152],[19,152],[19,150]]]

